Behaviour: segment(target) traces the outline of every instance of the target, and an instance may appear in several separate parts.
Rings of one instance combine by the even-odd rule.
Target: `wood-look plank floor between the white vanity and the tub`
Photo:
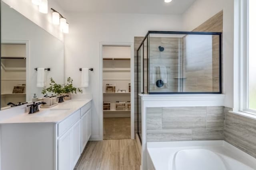
[[[140,170],[136,140],[89,141],[74,170]]]

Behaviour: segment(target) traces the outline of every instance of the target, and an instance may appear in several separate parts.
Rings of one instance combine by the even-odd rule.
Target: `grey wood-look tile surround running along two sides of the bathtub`
[[[147,142],[225,140],[256,158],[256,120],[231,108],[148,107]]]

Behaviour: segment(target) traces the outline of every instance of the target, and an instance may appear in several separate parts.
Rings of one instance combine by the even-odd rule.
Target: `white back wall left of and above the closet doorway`
[[[90,86],[84,93],[93,94],[92,138],[99,137],[99,66],[100,42],[134,42],[134,36],[145,36],[148,30],[180,30],[181,16],[147,14],[68,13],[70,33],[65,36],[65,77],[80,85],[79,68],[94,68]]]

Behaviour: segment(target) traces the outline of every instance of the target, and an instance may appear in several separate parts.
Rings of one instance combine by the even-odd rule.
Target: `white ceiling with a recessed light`
[[[183,14],[196,0],[57,0],[67,12]]]

